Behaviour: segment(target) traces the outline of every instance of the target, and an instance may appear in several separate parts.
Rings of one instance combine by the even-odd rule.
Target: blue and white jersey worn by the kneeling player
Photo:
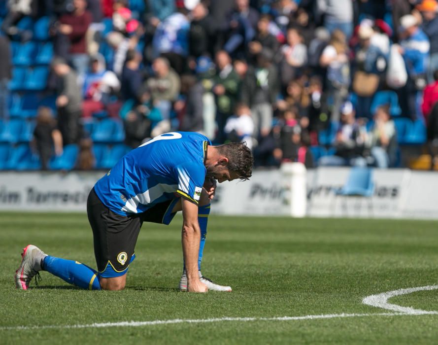
[[[96,182],[96,194],[120,215],[144,212],[174,193],[198,204],[207,145],[210,140],[199,133],[162,134],[126,154]]]

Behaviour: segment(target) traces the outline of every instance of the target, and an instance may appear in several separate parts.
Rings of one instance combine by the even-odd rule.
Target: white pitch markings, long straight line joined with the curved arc
[[[340,314],[322,314],[322,315],[303,315],[303,316],[279,316],[279,317],[218,317],[208,319],[171,319],[171,320],[151,320],[151,321],[122,321],[122,322],[104,322],[76,325],[41,325],[41,326],[11,326],[0,327],[0,331],[7,330],[37,330],[37,329],[81,329],[81,328],[104,328],[104,327],[141,327],[153,325],[168,325],[177,323],[213,323],[224,321],[248,322],[248,321],[298,321],[298,320],[317,320],[346,317],[366,317],[366,316],[414,316],[414,315],[436,315],[438,311],[423,311],[411,307],[402,307],[388,303],[388,299],[395,296],[406,295],[417,291],[436,290],[438,285],[428,285],[399,289],[384,292],[377,295],[367,296],[362,303],[390,310],[392,312],[380,313],[340,313]]]

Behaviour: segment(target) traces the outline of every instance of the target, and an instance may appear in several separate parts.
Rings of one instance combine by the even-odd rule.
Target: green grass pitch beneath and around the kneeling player
[[[438,283],[438,222],[211,216],[203,273],[233,292],[189,294],[180,223],[145,223],[121,292],[83,291],[46,272],[17,291],[21,249],[95,267],[85,214],[0,213],[0,344],[436,344],[438,315],[64,326],[121,321],[382,313],[371,294]],[[389,303],[438,311],[438,290]],[[31,328],[18,329],[16,326]],[[34,327],[35,326],[35,327]],[[43,326],[57,326],[47,328]],[[59,326],[59,327],[58,327]]]

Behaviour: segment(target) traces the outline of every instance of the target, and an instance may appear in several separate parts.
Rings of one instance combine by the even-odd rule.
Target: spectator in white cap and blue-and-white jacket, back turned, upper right
[[[417,98],[419,92],[426,86],[426,67],[429,59],[429,38],[419,28],[418,19],[406,14],[400,19],[402,26],[400,53],[403,56],[408,78],[406,85],[400,89],[399,99],[405,116],[415,120],[417,116]]]

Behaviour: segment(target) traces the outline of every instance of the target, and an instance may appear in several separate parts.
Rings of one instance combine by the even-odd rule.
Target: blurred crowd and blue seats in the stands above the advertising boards
[[[435,0],[0,7],[0,169],[107,169],[177,130],[261,167],[438,168]]]

